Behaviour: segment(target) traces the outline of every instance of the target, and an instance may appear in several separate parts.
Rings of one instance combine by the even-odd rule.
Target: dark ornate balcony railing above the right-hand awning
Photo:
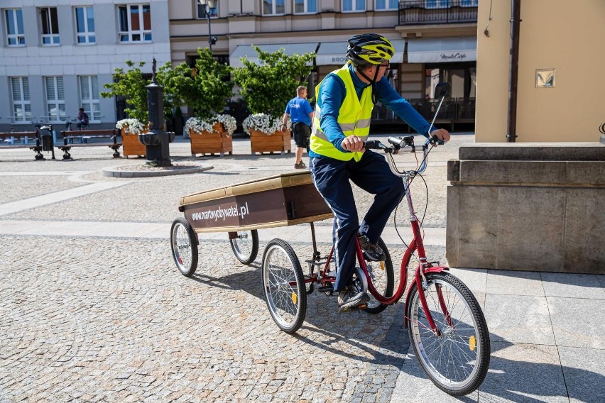
[[[399,25],[476,22],[477,0],[399,1]]]

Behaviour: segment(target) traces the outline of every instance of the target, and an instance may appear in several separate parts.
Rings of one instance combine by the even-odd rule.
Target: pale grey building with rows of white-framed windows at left
[[[99,95],[126,60],[170,62],[167,0],[0,2],[0,131],[62,127],[80,107],[115,125],[116,99]]]

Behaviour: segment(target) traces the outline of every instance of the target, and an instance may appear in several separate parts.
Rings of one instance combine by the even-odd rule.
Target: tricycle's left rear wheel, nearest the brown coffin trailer
[[[294,333],[305,321],[307,292],[300,262],[292,247],[273,239],[263,254],[263,292],[279,329]]]

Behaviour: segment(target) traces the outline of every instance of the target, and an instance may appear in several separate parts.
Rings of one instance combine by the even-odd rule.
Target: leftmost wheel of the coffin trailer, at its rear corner
[[[170,228],[173,258],[182,275],[191,277],[197,269],[197,233],[189,221],[179,217]]]

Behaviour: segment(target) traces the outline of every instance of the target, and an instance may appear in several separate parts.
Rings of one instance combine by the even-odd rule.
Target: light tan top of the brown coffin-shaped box
[[[214,199],[222,199],[223,197],[238,196],[239,194],[249,194],[256,192],[264,192],[271,189],[280,189],[283,187],[299,186],[301,184],[310,184],[311,172],[293,172],[288,174],[274,175],[271,177],[263,177],[249,182],[241,182],[232,184],[228,187],[219,187],[217,189],[206,190],[181,197],[179,204],[199,203],[200,201],[208,201]]]

